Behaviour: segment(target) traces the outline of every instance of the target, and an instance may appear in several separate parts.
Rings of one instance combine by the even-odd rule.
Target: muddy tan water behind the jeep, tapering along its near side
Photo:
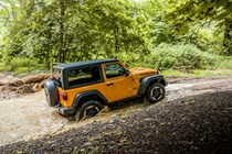
[[[123,116],[144,103],[136,103],[118,109],[106,108],[97,117],[76,122],[72,117],[59,114],[55,108],[48,106],[43,91],[0,101],[0,146],[22,140],[34,140],[83,127],[96,121]]]

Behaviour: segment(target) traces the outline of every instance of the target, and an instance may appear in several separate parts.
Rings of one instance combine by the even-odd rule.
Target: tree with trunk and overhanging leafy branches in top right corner
[[[223,54],[232,55],[232,9],[231,0],[169,0],[166,19],[172,24],[171,30],[187,33],[192,24],[203,28],[212,21],[217,23],[218,32],[223,33]],[[187,28],[187,29],[182,29]]]

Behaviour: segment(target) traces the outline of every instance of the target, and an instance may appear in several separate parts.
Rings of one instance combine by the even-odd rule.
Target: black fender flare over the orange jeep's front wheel
[[[146,92],[147,87],[149,86],[151,81],[156,81],[156,82],[162,84],[164,86],[167,86],[167,81],[165,80],[162,75],[147,76],[140,80],[138,95],[144,95]]]

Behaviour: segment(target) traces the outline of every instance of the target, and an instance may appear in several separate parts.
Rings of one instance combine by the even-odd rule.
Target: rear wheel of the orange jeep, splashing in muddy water
[[[103,109],[103,105],[97,100],[88,100],[76,110],[76,121],[95,117]]]

